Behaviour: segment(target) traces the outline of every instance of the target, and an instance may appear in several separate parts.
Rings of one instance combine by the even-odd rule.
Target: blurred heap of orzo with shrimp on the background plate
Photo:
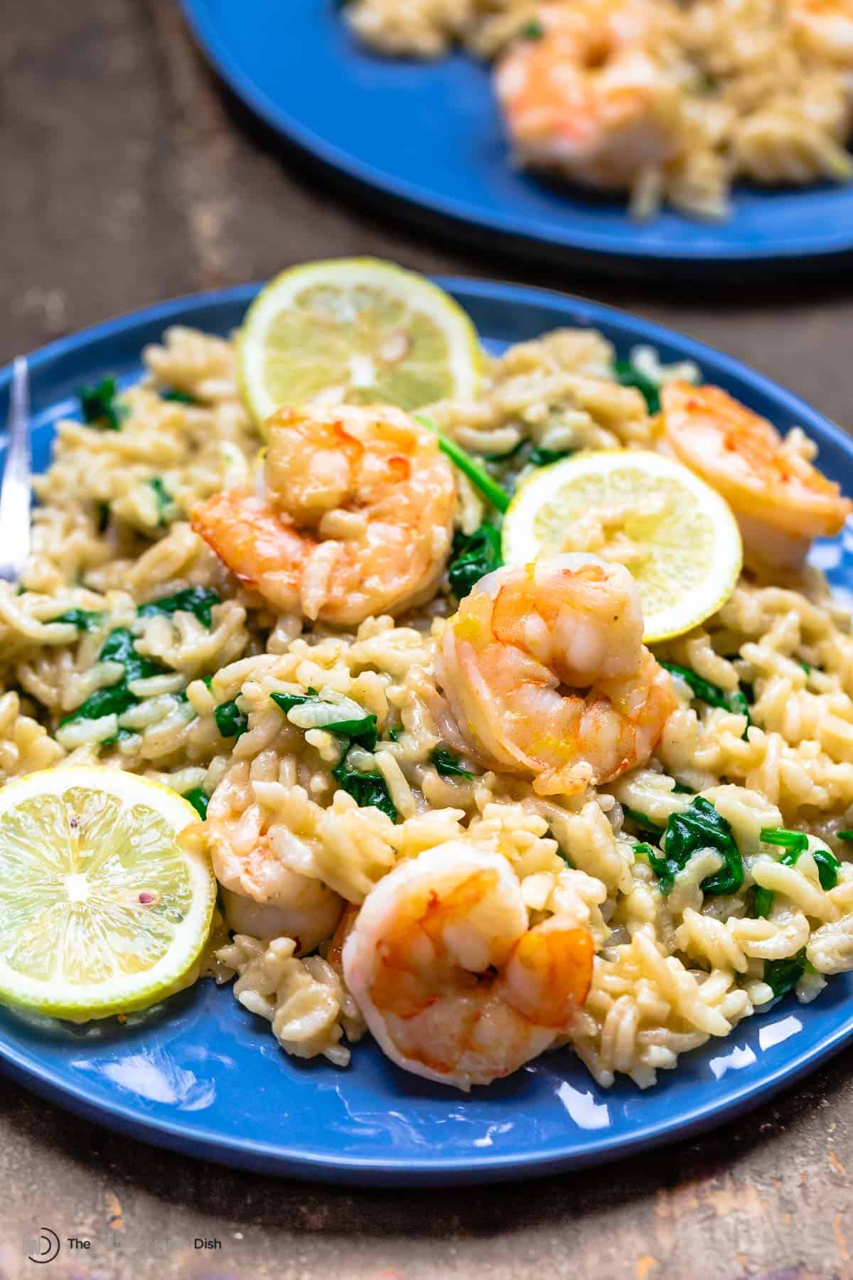
[[[849,182],[847,0],[354,0],[391,55],[496,59],[518,161],[724,218],[732,184]]]

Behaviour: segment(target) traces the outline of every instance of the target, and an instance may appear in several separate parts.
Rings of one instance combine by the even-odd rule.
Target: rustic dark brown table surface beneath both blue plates
[[[849,269],[820,284],[733,271],[641,285],[474,256],[341,196],[283,147],[217,84],[174,0],[0,0],[0,360],[161,298],[375,253],[615,302],[853,424]],[[696,1143],[446,1192],[234,1172],[115,1137],[3,1079],[0,1280],[850,1277],[852,1065],[841,1053]],[[63,1239],[43,1271],[22,1251],[41,1225]]]

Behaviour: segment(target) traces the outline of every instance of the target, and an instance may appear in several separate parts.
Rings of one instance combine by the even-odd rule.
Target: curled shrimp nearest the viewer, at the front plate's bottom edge
[[[510,1075],[568,1030],[592,978],[592,937],[528,928],[509,863],[463,841],[402,863],[368,893],[344,978],[394,1062],[469,1089]]]

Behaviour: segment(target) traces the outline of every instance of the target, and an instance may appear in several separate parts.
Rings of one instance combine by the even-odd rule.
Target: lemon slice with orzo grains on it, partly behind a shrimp
[[[604,530],[583,544],[581,521]],[[574,531],[574,538],[570,531]],[[639,585],[647,644],[669,640],[732,595],[743,548],[728,503],[680,462],[633,449],[578,453],[522,484],[504,518],[508,563],[616,544]]]

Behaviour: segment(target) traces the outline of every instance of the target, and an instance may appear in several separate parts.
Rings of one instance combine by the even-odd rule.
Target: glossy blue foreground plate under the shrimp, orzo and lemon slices
[[[619,311],[544,291],[442,280],[490,349],[558,325],[593,325],[624,355],[651,342],[665,360],[698,361],[780,428],[802,424],[849,493],[853,443],[802,401],[743,365]],[[139,352],[170,324],[225,334],[254,289],[182,298],[54,343],[31,361],[37,466],[81,383],[139,376]],[[0,421],[9,370],[0,374]],[[853,543],[816,548],[834,584],[853,579]],[[687,1055],[656,1089],[599,1089],[569,1052],[544,1057],[471,1096],[393,1066],[370,1042],[349,1070],[285,1057],[267,1024],[210,982],[136,1025],[70,1033],[0,1011],[0,1061],[28,1087],[148,1142],[234,1165],[358,1183],[448,1183],[574,1169],[696,1133],[757,1105],[853,1038],[853,978],[808,1006],[785,1000],[725,1041]]]

